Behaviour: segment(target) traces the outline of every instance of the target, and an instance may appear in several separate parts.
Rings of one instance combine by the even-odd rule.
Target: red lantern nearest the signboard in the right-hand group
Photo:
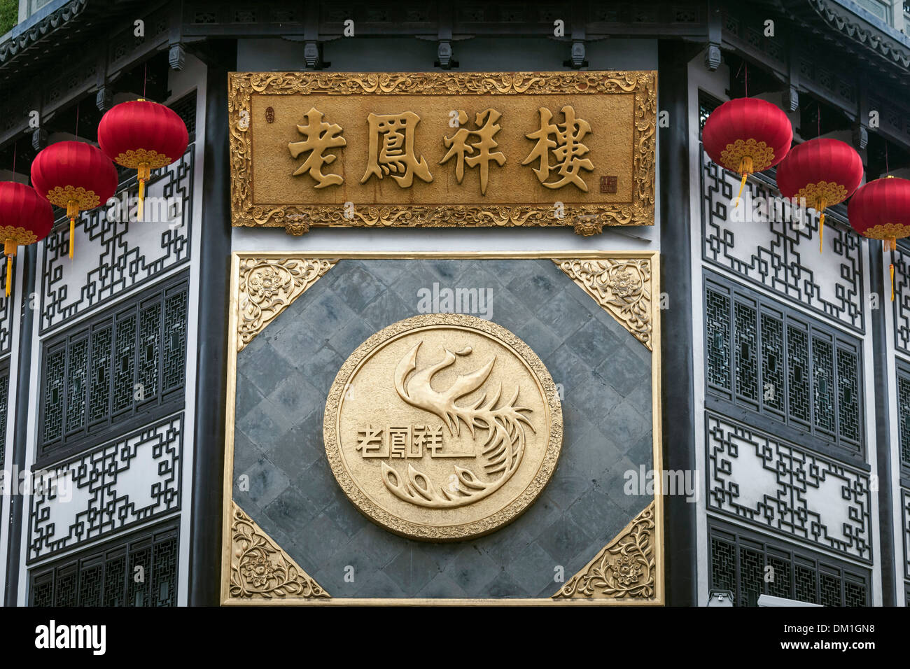
[[[784,159],[794,140],[786,114],[765,100],[738,97],[714,109],[704,122],[702,143],[711,159],[743,177],[736,205],[743,195],[745,179]]]

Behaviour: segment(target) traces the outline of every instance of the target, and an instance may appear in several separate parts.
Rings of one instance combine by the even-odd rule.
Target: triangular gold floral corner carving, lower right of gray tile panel
[[[635,516],[553,599],[652,599],[654,564],[654,502]]]

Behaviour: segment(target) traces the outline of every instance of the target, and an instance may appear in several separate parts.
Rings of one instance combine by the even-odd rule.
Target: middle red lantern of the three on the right
[[[777,167],[777,188],[784,198],[804,199],[821,216],[818,250],[822,250],[824,208],[843,202],[863,181],[863,159],[838,139],[809,139],[790,150]]]

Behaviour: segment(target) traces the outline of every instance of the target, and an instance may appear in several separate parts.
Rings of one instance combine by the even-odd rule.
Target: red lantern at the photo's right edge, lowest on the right
[[[870,239],[884,239],[895,251],[897,239],[910,237],[910,180],[875,179],[856,191],[847,205],[850,225]],[[891,263],[891,299],[895,299],[895,263]]]

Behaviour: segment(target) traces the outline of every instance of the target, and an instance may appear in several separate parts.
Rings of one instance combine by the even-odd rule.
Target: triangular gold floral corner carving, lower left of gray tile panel
[[[232,599],[329,598],[237,502],[231,514],[230,597]]]

